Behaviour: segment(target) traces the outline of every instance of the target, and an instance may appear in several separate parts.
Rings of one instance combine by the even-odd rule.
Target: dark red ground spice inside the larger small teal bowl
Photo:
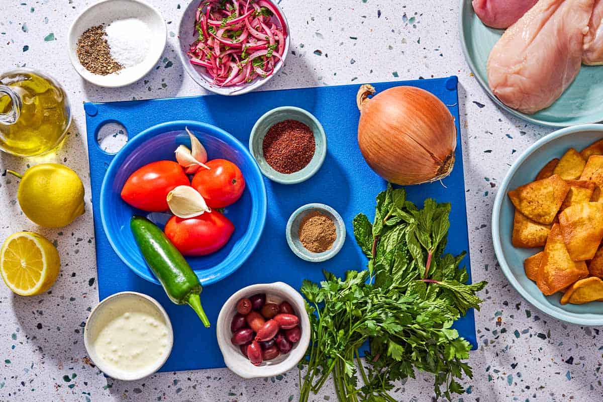
[[[302,122],[285,120],[268,129],[262,150],[264,159],[274,170],[292,174],[308,166],[314,157],[314,133]]]

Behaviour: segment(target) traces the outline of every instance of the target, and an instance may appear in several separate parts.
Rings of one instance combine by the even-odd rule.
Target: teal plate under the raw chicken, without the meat
[[[486,63],[491,49],[504,30],[482,24],[473,12],[471,0],[461,0],[460,19],[461,44],[467,63],[497,105],[526,121],[552,127],[603,121],[603,66],[582,66],[578,77],[557,102],[534,115],[526,115],[500,102],[488,87]]]

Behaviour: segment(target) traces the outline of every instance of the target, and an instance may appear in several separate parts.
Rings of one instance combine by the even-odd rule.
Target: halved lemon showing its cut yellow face
[[[20,231],[2,244],[0,274],[11,291],[21,296],[48,291],[61,266],[57,248],[37,233]]]

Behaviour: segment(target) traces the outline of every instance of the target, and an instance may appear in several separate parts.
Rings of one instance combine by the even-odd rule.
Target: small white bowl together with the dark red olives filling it
[[[303,297],[286,283],[244,287],[224,303],[216,333],[226,366],[242,378],[294,368],[310,344]]]

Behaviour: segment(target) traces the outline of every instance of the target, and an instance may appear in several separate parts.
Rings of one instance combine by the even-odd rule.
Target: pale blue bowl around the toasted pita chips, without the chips
[[[535,142],[509,169],[496,194],[492,212],[494,252],[500,269],[511,285],[541,312],[561,321],[579,325],[603,325],[603,303],[563,306],[560,303],[559,292],[547,297],[540,292],[533,281],[526,277],[523,260],[542,249],[516,248],[511,244],[515,209],[507,193],[509,190],[534,181],[537,172],[549,160],[560,158],[567,149],[576,148],[580,151],[600,139],[603,139],[603,124],[585,124],[563,128]]]

